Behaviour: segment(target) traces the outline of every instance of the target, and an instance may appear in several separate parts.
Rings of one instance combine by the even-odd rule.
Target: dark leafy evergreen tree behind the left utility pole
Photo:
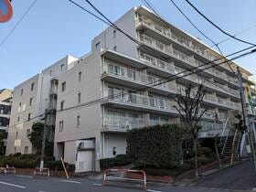
[[[32,125],[32,131],[28,135],[28,139],[36,149],[36,154],[41,154],[42,150],[42,141],[43,141],[43,134],[44,134],[44,123],[34,123]],[[49,142],[49,132],[46,136],[46,155],[53,155],[53,142]]]

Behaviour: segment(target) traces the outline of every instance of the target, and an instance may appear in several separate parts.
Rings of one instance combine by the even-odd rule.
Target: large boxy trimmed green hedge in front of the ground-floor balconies
[[[127,151],[133,163],[174,168],[182,159],[182,129],[177,124],[133,129],[127,135]]]

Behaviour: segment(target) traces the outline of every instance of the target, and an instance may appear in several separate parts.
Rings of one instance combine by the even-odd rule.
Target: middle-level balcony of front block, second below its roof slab
[[[110,95],[109,92],[105,92],[104,96],[109,96],[104,103],[109,103],[116,106],[122,106],[125,109],[137,109],[147,112],[159,112],[159,113],[172,113],[176,114],[176,108],[173,107],[175,101],[170,101],[160,97],[149,97],[134,93],[129,94],[115,94]]]

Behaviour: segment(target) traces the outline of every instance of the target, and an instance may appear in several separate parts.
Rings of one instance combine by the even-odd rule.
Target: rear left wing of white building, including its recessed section
[[[51,110],[48,117],[49,131],[54,138],[55,108],[57,103],[58,80],[60,73],[68,70],[76,59],[67,56],[44,69],[41,73],[17,85],[13,91],[12,112],[10,114],[10,125],[6,155],[9,154],[31,154],[33,147],[28,140],[33,123],[44,119],[46,109]]]

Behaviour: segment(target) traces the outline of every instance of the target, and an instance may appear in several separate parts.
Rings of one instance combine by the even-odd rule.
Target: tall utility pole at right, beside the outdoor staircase
[[[241,110],[242,110],[242,115],[243,115],[243,122],[245,123],[247,133],[244,133],[245,136],[248,138],[249,145],[251,146],[251,153],[252,153],[252,158],[253,158],[253,163],[254,163],[254,168],[256,169],[256,155],[255,155],[255,149],[254,149],[254,142],[253,138],[251,135],[251,126],[249,122],[249,117],[248,117],[248,112],[246,109],[246,100],[245,100],[245,94],[244,94],[244,87],[242,84],[242,76],[240,73],[240,67],[237,67],[238,70],[238,80],[240,84],[240,100],[241,100]],[[244,141],[246,142],[246,140]]]

